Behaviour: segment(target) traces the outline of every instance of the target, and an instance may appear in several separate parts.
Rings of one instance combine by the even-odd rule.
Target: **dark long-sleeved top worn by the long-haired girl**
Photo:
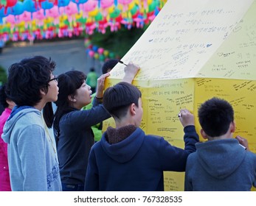
[[[74,109],[60,119],[57,149],[62,183],[84,184],[89,152],[94,144],[91,126],[111,117],[103,104],[99,104],[95,98],[90,110]]]

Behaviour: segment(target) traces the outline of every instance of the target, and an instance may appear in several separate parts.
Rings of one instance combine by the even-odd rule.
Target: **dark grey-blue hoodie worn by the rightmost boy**
[[[187,158],[185,191],[250,191],[256,186],[256,154],[235,138],[196,143]]]

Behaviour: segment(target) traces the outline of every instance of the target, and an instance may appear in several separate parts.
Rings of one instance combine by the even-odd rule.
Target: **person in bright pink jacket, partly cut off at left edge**
[[[5,85],[0,89],[0,103],[4,107],[4,111],[0,116],[0,191],[11,191],[7,160],[7,143],[2,140],[1,134],[3,133],[5,121],[7,121],[7,118],[10,116],[15,103],[7,98],[4,90]]]

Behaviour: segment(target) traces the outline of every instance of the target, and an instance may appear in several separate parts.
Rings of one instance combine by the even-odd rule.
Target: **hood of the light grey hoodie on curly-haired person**
[[[41,112],[35,107],[22,106],[22,107],[13,107],[12,113],[10,113],[10,117],[7,119],[4,124],[3,134],[1,138],[5,143],[10,143],[10,135],[13,131],[13,127],[15,126],[16,121],[25,116],[27,113],[38,113],[41,116]]]

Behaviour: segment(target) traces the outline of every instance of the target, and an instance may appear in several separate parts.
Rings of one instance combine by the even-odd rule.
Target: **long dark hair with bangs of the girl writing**
[[[67,71],[58,76],[58,100],[55,102],[57,110],[55,112],[54,129],[59,132],[60,118],[73,110],[69,107],[69,95],[75,95],[76,90],[83,85],[86,80],[86,74],[82,71]]]

